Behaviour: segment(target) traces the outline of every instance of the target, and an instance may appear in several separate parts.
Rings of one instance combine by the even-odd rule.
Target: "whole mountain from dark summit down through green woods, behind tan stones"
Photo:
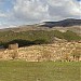
[[[53,43],[55,41],[80,41],[81,19],[68,18],[59,22],[44,22],[16,28],[0,29],[0,45],[10,43],[19,46]]]

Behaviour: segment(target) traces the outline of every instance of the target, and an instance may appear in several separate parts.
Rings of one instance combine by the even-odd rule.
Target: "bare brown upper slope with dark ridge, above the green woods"
[[[81,19],[67,18],[59,22],[43,22],[33,25],[22,25],[18,27],[0,29],[0,31],[27,31],[27,30],[59,30],[59,31],[73,31],[81,36]]]

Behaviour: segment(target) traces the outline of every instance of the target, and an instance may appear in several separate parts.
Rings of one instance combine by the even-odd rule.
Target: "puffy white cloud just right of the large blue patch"
[[[14,16],[24,21],[41,21],[49,17],[49,5],[41,0],[16,0]]]

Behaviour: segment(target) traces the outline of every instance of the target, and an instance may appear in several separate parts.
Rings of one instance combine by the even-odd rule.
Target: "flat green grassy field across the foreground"
[[[80,81],[79,62],[0,62],[0,81]]]

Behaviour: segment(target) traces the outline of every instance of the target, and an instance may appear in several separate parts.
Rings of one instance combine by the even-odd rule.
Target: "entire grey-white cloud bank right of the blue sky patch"
[[[80,18],[81,8],[77,0],[16,0],[14,16],[27,22]]]

